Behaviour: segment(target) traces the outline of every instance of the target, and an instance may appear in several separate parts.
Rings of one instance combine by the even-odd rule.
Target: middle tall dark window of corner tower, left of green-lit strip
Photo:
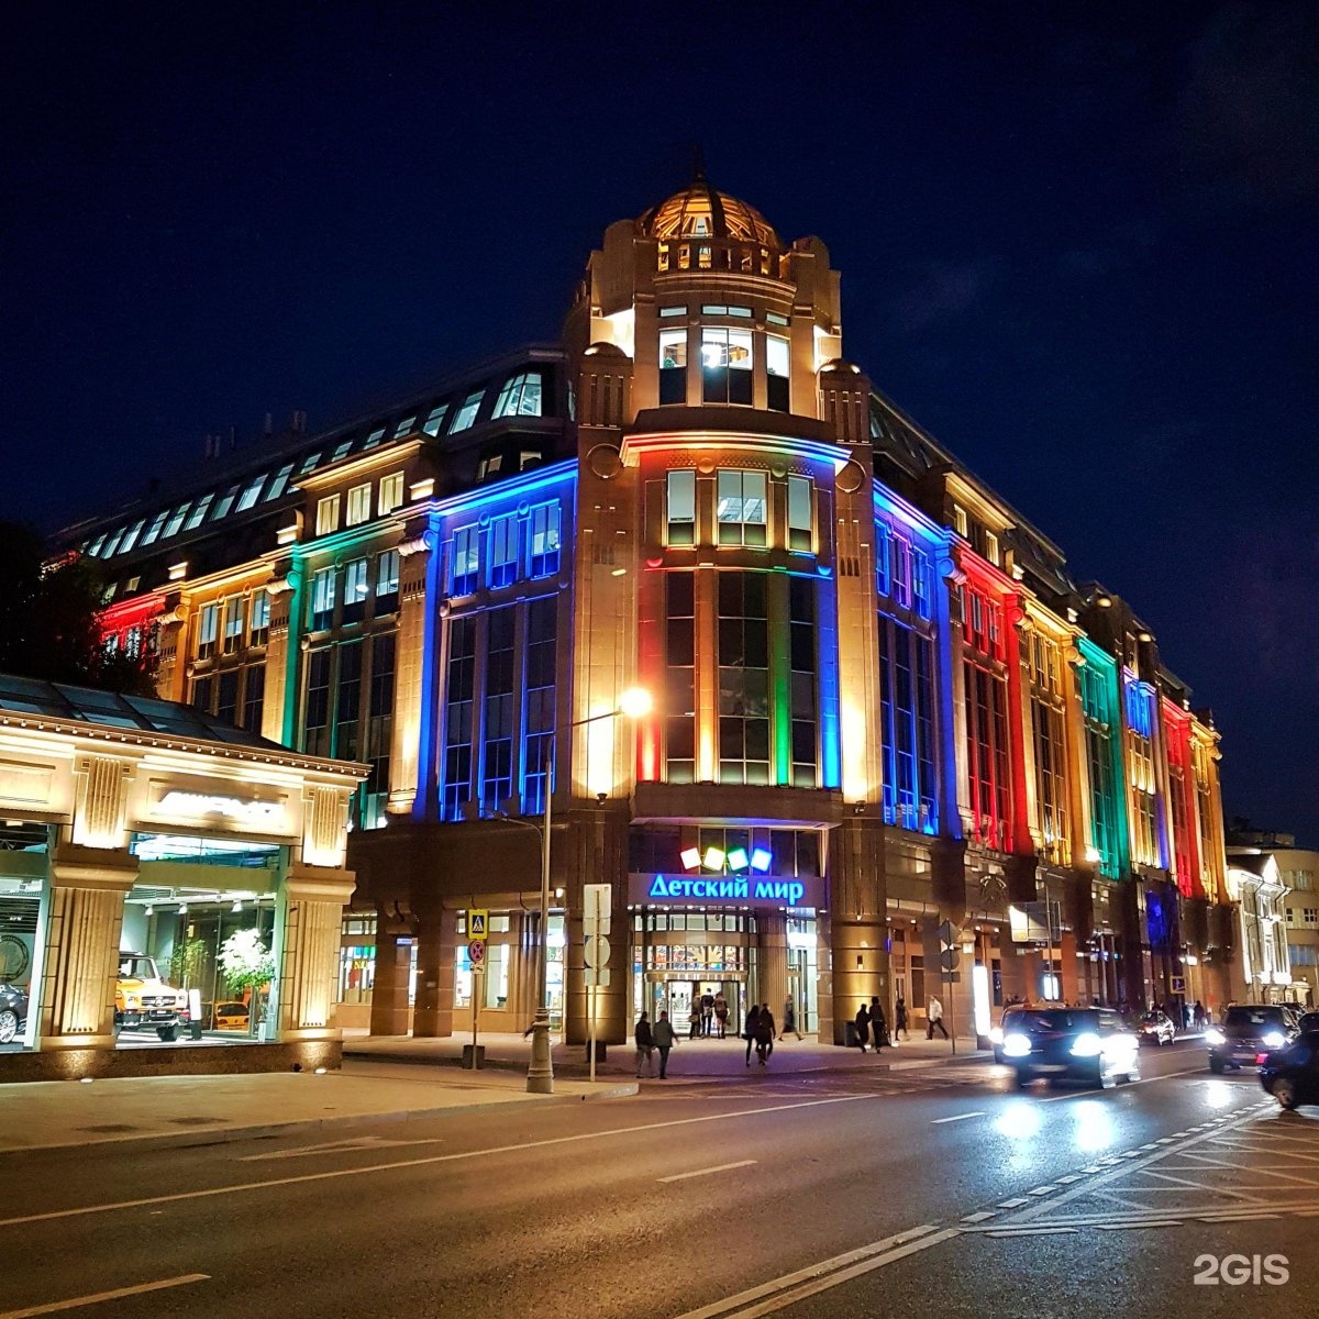
[[[719,574],[719,781],[768,783],[769,611],[762,572]]]

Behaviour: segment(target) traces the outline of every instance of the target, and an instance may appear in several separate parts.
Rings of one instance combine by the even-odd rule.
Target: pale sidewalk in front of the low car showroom
[[[402,1075],[401,1075],[402,1074]],[[456,1072],[350,1064],[342,1072],[128,1076],[0,1086],[5,1153],[107,1142],[207,1145],[332,1132],[364,1122],[417,1121],[520,1104],[574,1104],[636,1095],[636,1080],[557,1080],[528,1095],[512,1072]],[[332,1137],[328,1137],[332,1138]]]

